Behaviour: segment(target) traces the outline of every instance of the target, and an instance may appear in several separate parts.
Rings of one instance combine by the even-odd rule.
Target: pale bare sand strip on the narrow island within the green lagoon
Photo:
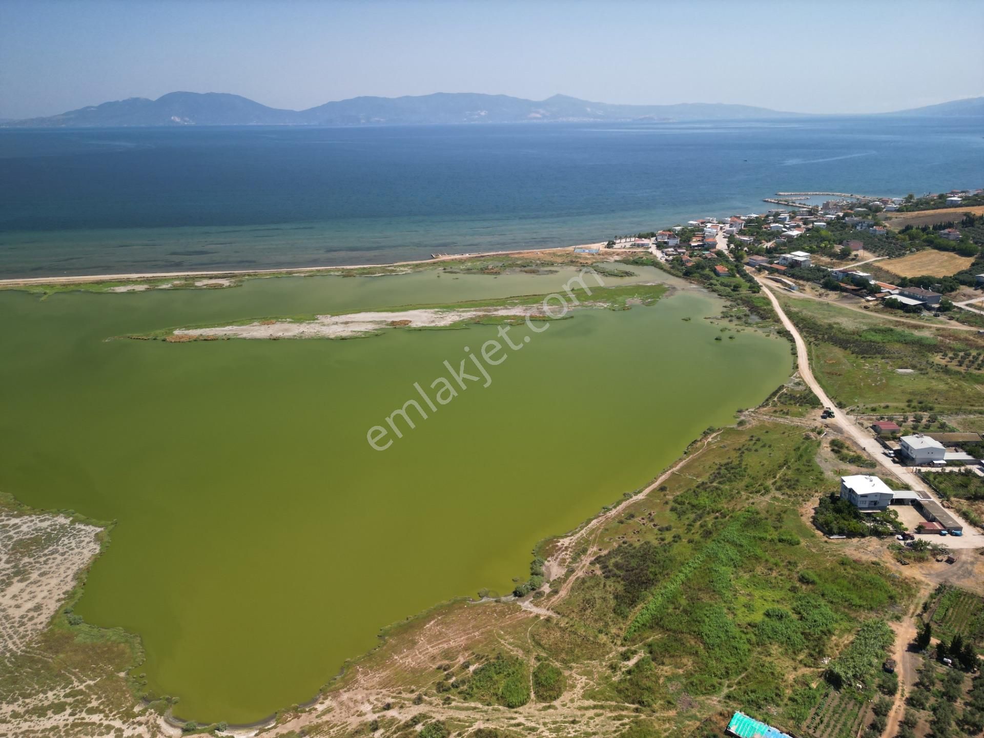
[[[354,338],[385,328],[447,328],[456,323],[491,316],[525,317],[535,314],[536,306],[471,308],[466,310],[402,310],[399,312],[319,315],[313,321],[260,321],[246,326],[187,328],[174,332],[189,338]],[[537,316],[541,320],[543,316]]]

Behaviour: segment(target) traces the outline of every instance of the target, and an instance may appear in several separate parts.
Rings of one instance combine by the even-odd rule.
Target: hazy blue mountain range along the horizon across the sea
[[[892,115],[981,115],[984,97],[902,110]],[[556,121],[676,121],[799,118],[750,105],[681,103],[612,105],[555,94],[527,100],[506,94],[437,92],[404,97],[352,97],[307,110],[267,107],[225,92],[169,92],[155,100],[131,97],[60,115],[8,120],[4,127],[110,128],[117,126],[372,126],[437,123],[523,123]]]

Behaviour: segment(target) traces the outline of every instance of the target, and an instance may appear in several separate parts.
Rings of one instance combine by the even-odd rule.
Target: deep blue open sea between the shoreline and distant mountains
[[[0,130],[0,277],[563,246],[984,185],[984,119]]]

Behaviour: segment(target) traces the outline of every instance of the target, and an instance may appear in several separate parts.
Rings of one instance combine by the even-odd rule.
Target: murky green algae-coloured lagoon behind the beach
[[[115,522],[76,612],[138,634],[200,721],[304,702],[380,628],[487,587],[788,376],[786,341],[722,334],[670,283],[531,334],[385,452],[367,430],[496,326],[349,340],[115,338],[267,316],[557,290],[575,273],[278,277],[131,294],[0,291],[0,491]],[[690,319],[690,320],[685,320]],[[715,340],[722,335],[723,340]],[[733,336],[728,339],[727,336]]]

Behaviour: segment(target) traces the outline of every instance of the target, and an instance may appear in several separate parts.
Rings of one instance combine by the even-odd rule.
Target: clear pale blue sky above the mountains
[[[177,90],[877,112],[984,94],[982,37],[981,0],[0,0],[0,117]]]

